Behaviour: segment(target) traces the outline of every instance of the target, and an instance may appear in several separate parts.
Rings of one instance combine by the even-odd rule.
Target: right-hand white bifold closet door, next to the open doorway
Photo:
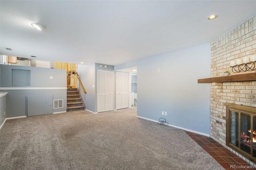
[[[129,73],[116,72],[116,109],[129,107]]]

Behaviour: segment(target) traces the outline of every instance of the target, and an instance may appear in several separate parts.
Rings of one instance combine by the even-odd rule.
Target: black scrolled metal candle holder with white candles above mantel
[[[256,62],[256,55],[251,55],[250,58],[244,57],[243,59],[236,59],[236,61],[235,60],[230,61],[230,67],[232,67],[233,73],[253,71],[253,70],[256,70],[255,62]],[[237,67],[238,70],[235,67]]]

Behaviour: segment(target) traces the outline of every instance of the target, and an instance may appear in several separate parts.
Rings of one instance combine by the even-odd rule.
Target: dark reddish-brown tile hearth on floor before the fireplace
[[[210,154],[223,168],[226,170],[256,170],[254,169],[239,169],[232,168],[230,165],[236,166],[250,166],[247,162],[242,160],[242,158],[236,156],[230,150],[224,148],[221,144],[216,142],[210,137],[196,134],[193,132],[188,132],[184,130],[196,143],[198,143],[208,154]]]

